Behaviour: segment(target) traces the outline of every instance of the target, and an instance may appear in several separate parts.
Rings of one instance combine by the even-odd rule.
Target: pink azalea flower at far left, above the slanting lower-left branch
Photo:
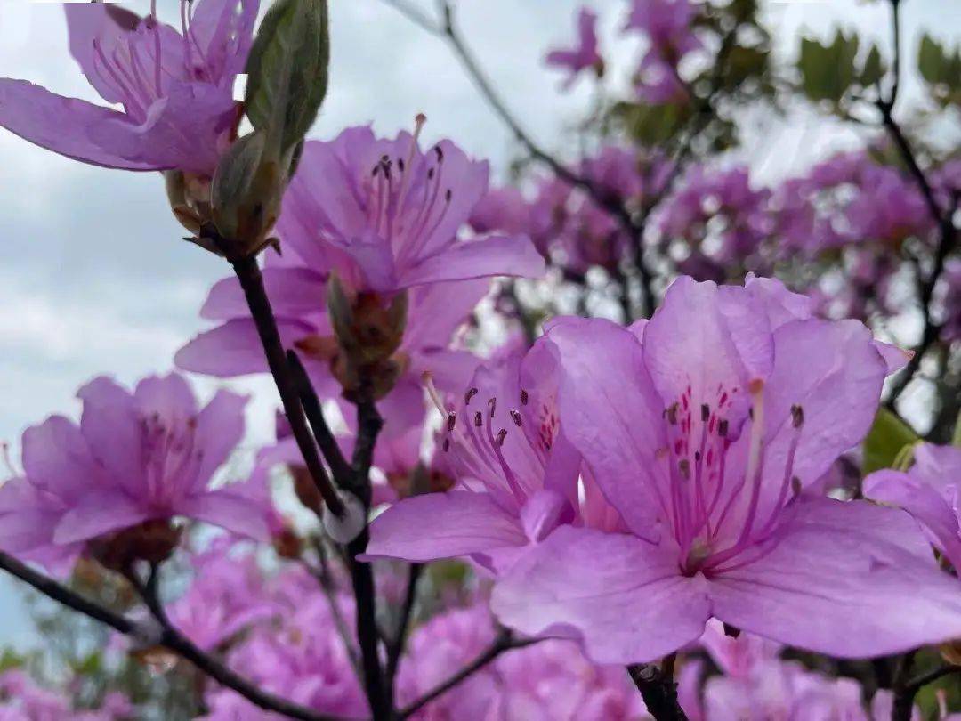
[[[23,434],[24,472],[0,486],[5,550],[64,570],[86,540],[179,515],[266,537],[244,485],[209,488],[243,435],[245,397],[221,390],[199,410],[178,375],[133,393],[100,377],[78,396],[79,426],[55,415]]]

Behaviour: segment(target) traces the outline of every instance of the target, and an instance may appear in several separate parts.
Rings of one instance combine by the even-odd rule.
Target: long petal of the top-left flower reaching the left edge
[[[130,158],[110,142],[96,141],[91,132],[111,125],[130,126],[122,112],[64,98],[24,80],[0,78],[0,127],[75,161],[122,170],[162,170],[172,167],[143,158]],[[108,138],[109,140],[109,138]]]

